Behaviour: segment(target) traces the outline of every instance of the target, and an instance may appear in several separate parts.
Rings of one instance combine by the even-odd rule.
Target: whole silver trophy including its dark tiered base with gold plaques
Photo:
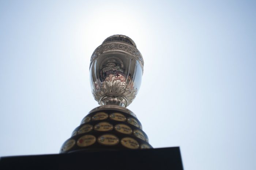
[[[143,64],[136,44],[125,35],[110,36],[95,49],[90,81],[101,106],[82,119],[60,153],[152,148],[142,124],[126,108],[139,91]]]

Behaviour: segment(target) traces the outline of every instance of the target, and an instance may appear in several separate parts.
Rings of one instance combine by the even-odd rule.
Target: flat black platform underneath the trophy
[[[179,147],[0,158],[1,170],[183,170]]]

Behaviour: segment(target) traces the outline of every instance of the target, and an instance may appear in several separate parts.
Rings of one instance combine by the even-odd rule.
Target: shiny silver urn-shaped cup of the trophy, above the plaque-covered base
[[[139,91],[143,58],[136,44],[125,35],[106,38],[91,56],[90,82],[100,105],[127,107]]]

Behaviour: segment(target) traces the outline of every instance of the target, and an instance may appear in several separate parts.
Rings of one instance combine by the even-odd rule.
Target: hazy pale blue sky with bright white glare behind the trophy
[[[128,109],[186,170],[256,169],[255,1],[0,1],[0,156],[58,153],[98,106],[94,49],[113,34],[144,58]]]

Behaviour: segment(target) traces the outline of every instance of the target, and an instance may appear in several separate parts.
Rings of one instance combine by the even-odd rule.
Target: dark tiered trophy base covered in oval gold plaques
[[[60,153],[148,148],[153,147],[133,112],[117,105],[103,105],[83,118]]]

